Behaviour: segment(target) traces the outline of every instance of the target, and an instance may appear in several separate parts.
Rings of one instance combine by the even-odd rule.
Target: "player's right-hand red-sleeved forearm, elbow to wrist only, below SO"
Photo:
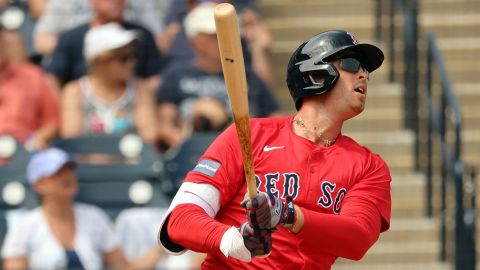
[[[330,253],[352,260],[361,259],[377,241],[380,215],[376,209],[355,216],[317,213],[301,208],[304,223],[298,233],[302,250]],[[367,211],[368,212],[368,211]]]

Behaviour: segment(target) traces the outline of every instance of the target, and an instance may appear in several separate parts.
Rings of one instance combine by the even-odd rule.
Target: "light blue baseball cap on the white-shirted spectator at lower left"
[[[28,162],[28,182],[33,185],[43,177],[52,176],[66,164],[75,166],[75,162],[61,149],[49,148],[39,151],[33,154]]]

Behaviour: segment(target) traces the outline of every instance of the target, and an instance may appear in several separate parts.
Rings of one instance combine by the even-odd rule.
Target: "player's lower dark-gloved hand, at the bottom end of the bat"
[[[252,257],[267,255],[272,251],[272,230],[254,230],[248,222],[240,225],[243,243]]]

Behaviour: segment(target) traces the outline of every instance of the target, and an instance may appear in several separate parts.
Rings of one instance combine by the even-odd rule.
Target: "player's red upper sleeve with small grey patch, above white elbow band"
[[[216,187],[220,191],[220,207],[236,195],[245,177],[235,125],[228,127],[213,141],[185,181]]]

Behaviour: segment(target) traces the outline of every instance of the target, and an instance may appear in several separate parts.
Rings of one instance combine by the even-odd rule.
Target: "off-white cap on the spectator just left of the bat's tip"
[[[183,21],[187,37],[194,37],[199,33],[215,34],[215,17],[213,15],[215,3],[201,3],[192,9]]]

